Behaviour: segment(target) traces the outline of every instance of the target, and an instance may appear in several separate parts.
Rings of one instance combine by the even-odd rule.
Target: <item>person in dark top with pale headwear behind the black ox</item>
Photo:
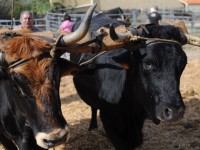
[[[162,22],[162,17],[161,14],[158,13],[158,6],[155,6],[153,8],[150,9],[150,13],[147,15],[148,19],[147,19],[147,23],[154,23],[157,25],[161,25]]]

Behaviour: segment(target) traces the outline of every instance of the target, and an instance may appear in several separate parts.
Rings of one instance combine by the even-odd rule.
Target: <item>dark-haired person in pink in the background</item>
[[[64,21],[60,25],[60,29],[65,32],[71,32],[74,23],[71,21],[71,17],[68,14],[65,14]]]

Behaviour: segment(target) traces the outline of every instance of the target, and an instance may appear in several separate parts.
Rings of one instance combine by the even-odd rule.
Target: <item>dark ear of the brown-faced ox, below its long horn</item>
[[[58,65],[61,70],[61,76],[74,75],[80,71],[80,66],[78,64],[72,63],[64,58],[59,58]]]

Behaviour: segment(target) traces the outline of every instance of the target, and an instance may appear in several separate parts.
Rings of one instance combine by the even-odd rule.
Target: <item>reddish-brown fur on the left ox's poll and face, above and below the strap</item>
[[[2,41],[2,39],[1,39]],[[9,45],[9,46],[8,46]],[[6,53],[6,59],[10,62],[36,57],[43,52],[49,51],[51,44],[45,40],[34,37],[33,35],[19,35],[0,43],[1,49]],[[34,93],[36,103],[41,110],[42,104],[40,97],[49,95],[51,86],[48,78],[48,67],[52,62],[52,58],[44,58],[38,60],[37,57],[30,60],[28,63],[11,69],[11,71],[24,74],[28,79],[30,89]],[[47,100],[50,98],[46,97]]]

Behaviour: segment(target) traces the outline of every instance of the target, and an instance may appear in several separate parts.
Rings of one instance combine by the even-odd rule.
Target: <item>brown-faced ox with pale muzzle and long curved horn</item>
[[[52,38],[30,33],[0,34],[0,141],[6,149],[48,149],[68,139],[59,85],[61,76],[78,65],[61,59],[60,49],[85,36],[95,6],[82,26],[59,38],[57,45]]]

